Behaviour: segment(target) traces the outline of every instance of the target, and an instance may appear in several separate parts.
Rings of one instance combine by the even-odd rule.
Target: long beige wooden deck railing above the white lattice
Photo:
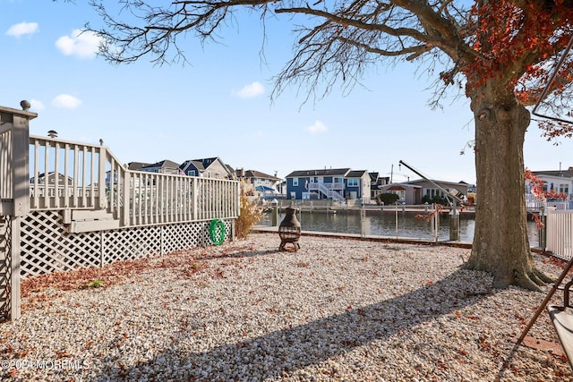
[[[130,171],[103,145],[30,136],[31,209],[106,209],[121,227],[235,218],[239,183]]]

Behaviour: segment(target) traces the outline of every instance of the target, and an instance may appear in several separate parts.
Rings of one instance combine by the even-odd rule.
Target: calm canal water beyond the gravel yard
[[[285,214],[279,214],[278,223]],[[329,233],[355,233],[364,235],[387,236],[433,240],[430,222],[415,217],[412,213],[398,214],[394,212],[337,210],[333,211],[299,211],[296,218],[300,221],[303,231],[319,231]],[[271,214],[265,214],[260,225],[272,225]],[[529,243],[532,247],[539,244],[538,229],[535,222],[527,222]],[[461,242],[473,242],[475,231],[474,216],[460,216],[459,239]],[[438,240],[449,240],[449,216],[440,215]]]

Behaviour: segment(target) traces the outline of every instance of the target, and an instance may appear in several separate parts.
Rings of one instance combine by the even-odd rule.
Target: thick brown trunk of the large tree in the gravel
[[[539,290],[549,281],[535,268],[527,237],[523,144],[529,112],[492,83],[472,97],[477,207],[466,267],[492,273],[493,286]]]

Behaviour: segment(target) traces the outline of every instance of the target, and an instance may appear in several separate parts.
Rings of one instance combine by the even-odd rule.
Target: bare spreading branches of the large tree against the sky
[[[538,6],[552,3],[513,1],[516,9],[523,10],[524,22],[535,17],[526,13],[536,9],[526,6],[534,2]],[[488,4],[477,2],[482,3]],[[104,38],[100,55],[115,64],[133,63],[143,56],[149,56],[154,64],[187,63],[192,53],[184,51],[180,39],[192,34],[203,44],[218,42],[219,30],[238,25],[237,11],[259,13],[263,28],[267,15],[307,17],[308,26],[295,29],[299,34],[295,42],[297,53],[281,72],[282,78],[278,76],[274,95],[285,89],[287,82],[304,84],[307,91],[319,94],[319,98],[328,93],[336,81],[341,81],[344,89],[352,89],[360,82],[366,67],[381,64],[384,58],[394,62],[420,60],[432,67],[432,71],[439,65],[440,81],[436,85],[459,88],[462,81],[455,80],[459,75],[469,73],[469,80],[476,81],[475,71],[468,72],[468,65],[478,62],[494,65],[497,60],[486,49],[475,48],[479,42],[475,39],[476,32],[481,28],[477,15],[471,12],[471,4],[456,0],[342,0],[333,4],[322,0],[313,4],[304,0],[177,0],[166,6],[121,0],[123,8],[119,15],[108,13],[98,0],[90,0],[90,4],[106,27],[86,27]],[[127,17],[119,19],[122,14]],[[522,35],[517,33],[512,43],[526,45],[527,41],[519,41]],[[535,49],[526,50],[508,64],[497,80],[506,86],[517,83],[526,68],[535,64],[538,55]],[[316,93],[319,86],[322,90]],[[434,98],[432,104],[438,105],[444,94],[444,89],[436,88],[434,95],[438,99]]]

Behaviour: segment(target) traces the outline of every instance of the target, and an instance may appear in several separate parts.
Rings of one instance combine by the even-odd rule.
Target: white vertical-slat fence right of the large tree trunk
[[[573,210],[547,210],[545,250],[560,259],[573,258]]]

